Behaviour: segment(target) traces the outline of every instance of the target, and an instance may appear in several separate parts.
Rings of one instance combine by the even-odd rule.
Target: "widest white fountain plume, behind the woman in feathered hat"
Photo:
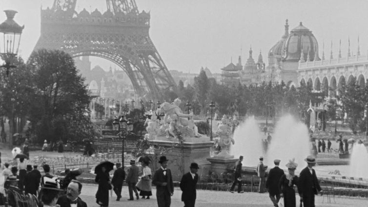
[[[310,154],[310,142],[307,126],[296,121],[291,115],[282,117],[276,125],[272,141],[268,144],[265,162],[273,165],[274,159],[286,163],[295,158],[300,166]]]

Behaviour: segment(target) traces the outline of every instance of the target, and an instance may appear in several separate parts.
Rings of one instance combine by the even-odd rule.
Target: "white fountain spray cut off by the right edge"
[[[364,144],[355,143],[350,157],[349,175],[355,178],[367,178],[367,160],[368,152],[366,146]]]

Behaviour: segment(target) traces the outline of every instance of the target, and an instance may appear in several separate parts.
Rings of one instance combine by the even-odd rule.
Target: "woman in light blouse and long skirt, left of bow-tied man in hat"
[[[139,193],[142,198],[149,199],[149,196],[152,195],[152,172],[151,168],[148,167],[149,162],[143,161],[143,176],[141,180],[137,183],[137,188],[141,192]],[[146,197],[147,196],[147,197]]]

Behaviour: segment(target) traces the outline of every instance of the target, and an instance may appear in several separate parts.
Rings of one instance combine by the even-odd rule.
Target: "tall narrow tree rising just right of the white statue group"
[[[210,83],[204,70],[201,70],[198,77],[194,78],[195,99],[201,106],[201,115],[204,116],[207,107],[207,92]],[[209,101],[210,102],[210,101]]]

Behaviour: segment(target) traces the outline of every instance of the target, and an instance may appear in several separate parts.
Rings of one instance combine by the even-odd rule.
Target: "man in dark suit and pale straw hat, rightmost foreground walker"
[[[316,165],[316,160],[313,156],[308,156],[305,161],[308,166],[299,174],[298,192],[301,200],[303,200],[304,207],[315,207],[314,195],[317,195],[322,190],[316,176],[316,171],[313,169],[313,166]]]

